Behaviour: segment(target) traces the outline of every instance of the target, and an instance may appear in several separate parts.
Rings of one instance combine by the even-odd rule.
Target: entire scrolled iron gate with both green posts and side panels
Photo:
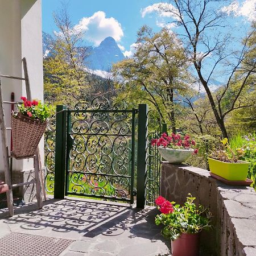
[[[137,207],[155,205],[161,159],[150,142],[167,131],[158,112],[146,104],[127,110],[98,97],[73,110],[57,106],[56,136],[54,131],[46,134],[46,187],[55,198],[76,195],[133,203],[136,194]]]

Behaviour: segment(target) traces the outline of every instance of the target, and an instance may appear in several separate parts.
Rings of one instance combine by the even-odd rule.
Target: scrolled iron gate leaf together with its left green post
[[[60,194],[55,197],[63,197],[65,179],[65,195],[133,203],[137,110],[112,106],[104,97],[95,98],[89,105],[79,103],[73,110],[58,107],[55,195],[58,191]],[[59,185],[58,164],[62,170]]]

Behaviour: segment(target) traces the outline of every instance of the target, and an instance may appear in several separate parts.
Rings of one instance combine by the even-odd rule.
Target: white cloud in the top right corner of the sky
[[[256,0],[245,0],[242,3],[232,2],[229,6],[222,7],[221,11],[228,15],[243,16],[249,21],[256,20]]]

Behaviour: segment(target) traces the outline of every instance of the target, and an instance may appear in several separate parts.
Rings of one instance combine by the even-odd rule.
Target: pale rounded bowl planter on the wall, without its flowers
[[[180,164],[185,162],[194,152],[193,148],[177,149],[168,147],[158,147],[158,151],[162,158],[169,163]]]

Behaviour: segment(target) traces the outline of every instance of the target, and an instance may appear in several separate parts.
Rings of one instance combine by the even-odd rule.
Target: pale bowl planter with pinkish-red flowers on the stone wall
[[[194,149],[196,142],[189,135],[182,137],[180,134],[172,133],[168,136],[163,133],[159,139],[152,139],[151,145],[157,146],[162,158],[170,163],[180,164],[185,162],[192,154],[197,154]]]

